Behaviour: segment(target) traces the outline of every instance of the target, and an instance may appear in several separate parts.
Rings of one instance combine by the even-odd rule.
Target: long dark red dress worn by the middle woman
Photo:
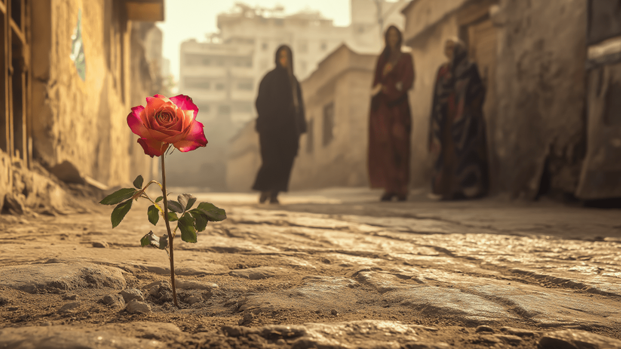
[[[410,179],[410,133],[412,116],[407,91],[414,83],[414,64],[401,53],[391,64],[381,55],[373,87],[384,88],[371,99],[369,116],[369,182],[371,188],[405,196]]]

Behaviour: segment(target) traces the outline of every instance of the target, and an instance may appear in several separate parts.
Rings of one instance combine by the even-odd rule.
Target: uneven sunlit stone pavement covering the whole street
[[[196,194],[229,218],[175,240],[181,310],[147,206],[1,216],[0,348],[621,348],[621,210],[379,194]]]

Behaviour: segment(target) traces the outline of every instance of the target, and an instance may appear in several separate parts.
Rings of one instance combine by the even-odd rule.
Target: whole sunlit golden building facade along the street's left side
[[[156,89],[138,33],[153,25],[135,21],[163,20],[163,1],[0,0],[0,12],[0,205],[52,200],[58,179],[114,187],[152,177],[126,118]]]

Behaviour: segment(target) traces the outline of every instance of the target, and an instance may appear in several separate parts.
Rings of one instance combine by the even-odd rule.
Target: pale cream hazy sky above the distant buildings
[[[166,0],[165,21],[158,22],[164,32],[163,56],[170,59],[170,70],[179,78],[179,45],[196,38],[203,41],[205,34],[217,32],[216,16],[227,12],[240,0]],[[284,6],[286,14],[303,9],[319,10],[335,25],[350,24],[350,0],[242,0],[250,6]]]

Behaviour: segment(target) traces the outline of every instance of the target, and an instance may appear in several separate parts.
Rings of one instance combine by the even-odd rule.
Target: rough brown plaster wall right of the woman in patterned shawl
[[[552,189],[573,193],[584,153],[586,0],[502,0],[493,150],[501,190],[535,197],[546,158]]]

